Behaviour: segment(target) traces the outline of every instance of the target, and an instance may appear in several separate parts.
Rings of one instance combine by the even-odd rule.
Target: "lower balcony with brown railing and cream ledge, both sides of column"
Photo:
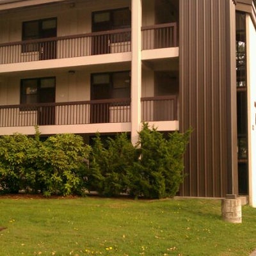
[[[141,122],[159,127],[164,121],[164,129],[170,131],[177,129],[178,115],[177,95],[141,98]],[[42,134],[130,132],[131,99],[0,106],[0,135],[34,134],[35,125],[39,125]]]

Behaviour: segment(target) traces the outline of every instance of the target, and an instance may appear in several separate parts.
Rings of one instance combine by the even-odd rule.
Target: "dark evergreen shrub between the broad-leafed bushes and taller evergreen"
[[[97,134],[94,139],[87,188],[100,195],[114,196],[127,192],[130,181],[127,172],[136,161],[136,150],[126,133],[108,138],[106,146]]]

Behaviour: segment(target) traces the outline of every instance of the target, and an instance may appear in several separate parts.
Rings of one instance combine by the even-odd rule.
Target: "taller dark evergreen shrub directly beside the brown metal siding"
[[[174,196],[183,182],[183,155],[191,130],[164,138],[156,128],[143,124],[139,132],[140,158],[131,175],[131,194],[146,198]]]

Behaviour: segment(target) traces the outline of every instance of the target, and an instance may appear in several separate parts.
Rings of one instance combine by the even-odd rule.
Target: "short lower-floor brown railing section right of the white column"
[[[173,121],[177,120],[177,95],[141,98],[141,120]]]

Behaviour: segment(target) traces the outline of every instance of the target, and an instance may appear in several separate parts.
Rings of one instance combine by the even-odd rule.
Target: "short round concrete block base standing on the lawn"
[[[222,220],[230,223],[242,223],[241,199],[222,199],[221,201]]]

